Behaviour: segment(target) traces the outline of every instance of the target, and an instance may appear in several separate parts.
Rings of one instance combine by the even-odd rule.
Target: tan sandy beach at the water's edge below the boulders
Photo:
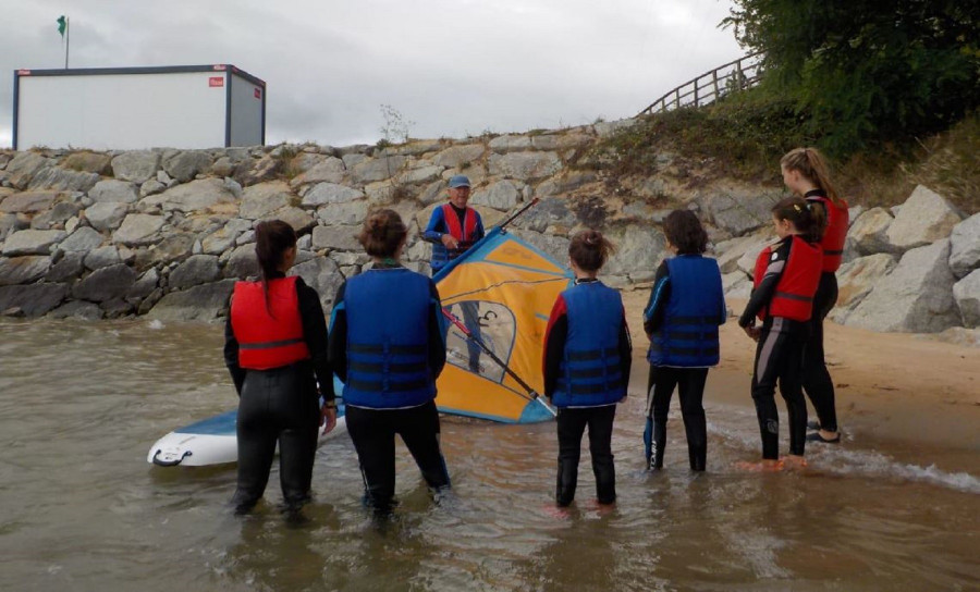
[[[634,345],[634,388],[646,385],[642,310],[649,288],[623,293]],[[740,313],[744,300],[730,299]],[[721,330],[722,360],[709,373],[706,400],[751,406],[755,344],[735,318]],[[874,333],[828,322],[825,350],[836,386],[844,446],[886,442],[909,460],[976,470],[980,451],[980,349],[903,333]],[[781,412],[783,402],[776,396]],[[673,402],[672,406],[677,403]],[[812,407],[810,408],[812,415]],[[710,420],[710,417],[709,417]],[[941,451],[941,454],[936,452]]]

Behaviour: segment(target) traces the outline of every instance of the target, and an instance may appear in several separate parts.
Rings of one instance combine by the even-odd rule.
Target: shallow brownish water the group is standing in
[[[145,460],[157,437],[234,405],[221,333],[0,321],[0,590],[980,587],[980,466],[944,469],[941,451],[882,449],[857,433],[808,451],[806,473],[739,472],[733,462],[758,456],[754,414],[710,398],[709,471],[697,477],[673,416],[666,470],[640,470],[642,404],[621,406],[611,511],[589,503],[587,453],[577,506],[551,508],[553,424],[450,418],[455,493],[439,506],[400,448],[402,504],[372,519],[343,435],[319,451],[308,522],[283,520],[275,474],[258,511],[235,518],[233,469]]]

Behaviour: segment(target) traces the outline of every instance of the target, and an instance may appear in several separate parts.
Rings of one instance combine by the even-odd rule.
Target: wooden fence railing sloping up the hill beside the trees
[[[702,107],[728,92],[755,86],[762,74],[762,53],[750,53],[688,81],[660,97],[639,115],[662,113],[682,107]]]

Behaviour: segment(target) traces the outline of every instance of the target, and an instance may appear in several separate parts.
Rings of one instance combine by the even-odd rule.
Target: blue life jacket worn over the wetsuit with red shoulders
[[[626,396],[620,368],[623,299],[601,282],[574,285],[562,293],[568,337],[552,403],[556,407],[610,405]]]

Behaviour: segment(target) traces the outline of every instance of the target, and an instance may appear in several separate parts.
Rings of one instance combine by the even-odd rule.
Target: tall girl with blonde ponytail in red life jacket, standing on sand
[[[786,187],[807,200],[820,232],[823,264],[817,295],[813,297],[813,316],[810,333],[804,349],[804,391],[817,411],[817,422],[808,428],[819,431],[807,436],[808,442],[837,443],[837,412],[834,404],[834,383],[826,370],[823,356],[823,319],[837,303],[837,276],[844,240],[850,224],[847,202],[837,196],[831,182],[826,161],[816,148],[796,148],[780,161]]]

